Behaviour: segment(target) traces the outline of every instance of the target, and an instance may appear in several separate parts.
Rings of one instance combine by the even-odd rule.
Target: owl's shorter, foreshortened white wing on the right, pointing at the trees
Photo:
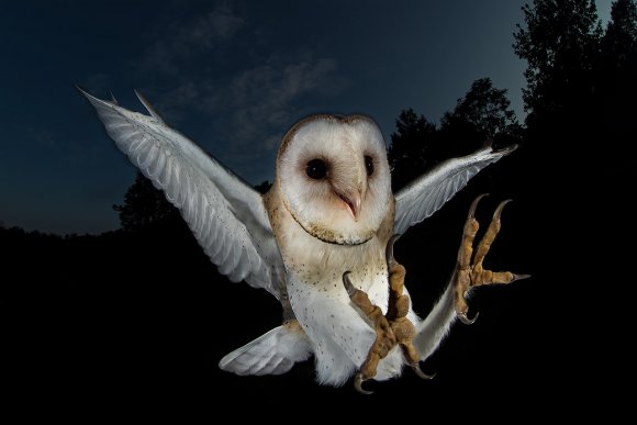
[[[493,150],[485,147],[471,155],[448,159],[401,189],[395,195],[394,233],[402,234],[438,211],[489,164],[517,146]]]

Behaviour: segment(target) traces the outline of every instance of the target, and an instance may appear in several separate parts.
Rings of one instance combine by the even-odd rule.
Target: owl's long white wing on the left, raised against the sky
[[[118,147],[179,209],[212,262],[233,282],[245,280],[277,299],[283,262],[262,197],[170,128],[139,93],[150,115],[78,90],[96,108]]]

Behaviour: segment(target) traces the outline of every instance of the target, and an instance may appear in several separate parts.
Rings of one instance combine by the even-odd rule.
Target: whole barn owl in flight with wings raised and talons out
[[[223,370],[280,374],[314,356],[318,383],[342,385],[354,377],[360,392],[365,380],[398,377],[405,365],[431,378],[418,361],[457,317],[472,322],[467,292],[526,277],[482,268],[505,202],[472,255],[479,199],[473,202],[452,278],[424,320],[393,258],[398,235],[513,148],[447,160],[394,194],[385,143],[371,119],[313,115],[284,135],[275,182],[261,195],[169,127],[138,92],[149,115],[79,90],[118,147],[179,209],[220,272],[280,301],[282,324],[223,357]]]

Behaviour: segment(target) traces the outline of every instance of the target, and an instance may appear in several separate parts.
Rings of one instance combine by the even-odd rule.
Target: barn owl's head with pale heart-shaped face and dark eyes
[[[301,227],[333,244],[369,241],[393,204],[382,134],[361,115],[295,124],[279,148],[277,182]]]

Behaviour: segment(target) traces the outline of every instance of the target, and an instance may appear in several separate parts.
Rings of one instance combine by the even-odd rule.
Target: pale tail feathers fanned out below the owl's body
[[[226,372],[246,374],[281,374],[312,354],[308,336],[295,320],[259,336],[235,349],[219,362]]]

